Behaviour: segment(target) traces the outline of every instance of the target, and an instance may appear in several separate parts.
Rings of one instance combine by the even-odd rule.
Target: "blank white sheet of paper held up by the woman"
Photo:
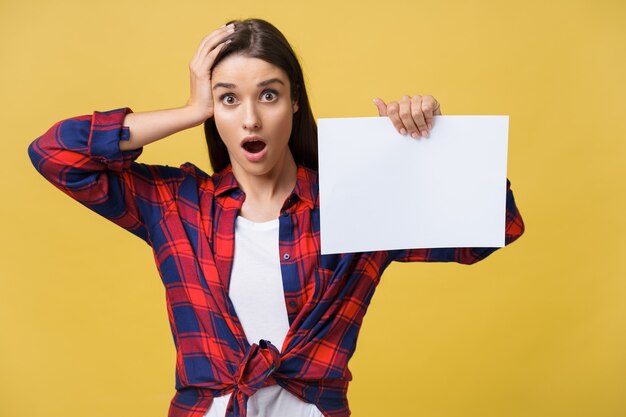
[[[318,120],[322,254],[502,247],[508,116],[435,116],[428,138],[388,117]]]

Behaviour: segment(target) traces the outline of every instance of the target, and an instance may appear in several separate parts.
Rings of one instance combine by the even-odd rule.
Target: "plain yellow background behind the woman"
[[[626,2],[1,0],[0,416],[166,415],[150,248],[44,181],[27,146],[70,116],[184,104],[200,39],[245,17],[293,44],[316,117],[402,94],[510,116],[526,234],[471,267],[390,267],[353,415],[626,415]],[[208,169],[201,128],[140,160]]]

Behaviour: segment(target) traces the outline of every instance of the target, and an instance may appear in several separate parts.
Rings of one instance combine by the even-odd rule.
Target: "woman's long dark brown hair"
[[[285,36],[265,20],[232,20],[228,22],[230,23],[235,24],[235,32],[225,39],[230,39],[231,42],[222,47],[211,71],[231,54],[262,59],[285,71],[289,77],[291,99],[298,103],[298,111],[293,115],[289,149],[297,164],[317,170],[317,125],[309,105],[302,68],[295,52]],[[213,117],[204,122],[204,135],[209,147],[213,172],[221,171],[230,164],[230,157]]]

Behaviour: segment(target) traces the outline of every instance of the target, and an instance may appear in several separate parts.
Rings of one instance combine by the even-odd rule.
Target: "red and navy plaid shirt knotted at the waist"
[[[135,162],[120,151],[128,108],[61,121],[29,147],[35,168],[89,209],[146,241],[166,290],[176,345],[176,394],[169,417],[203,417],[232,392],[226,416],[245,416],[248,398],[279,384],[324,416],[350,415],[347,401],[363,316],[392,261],[477,262],[496,248],[448,248],[320,255],[317,174],[298,167],[279,218],[280,267],[290,329],[282,353],[250,345],[228,296],[235,220],[245,195],[230,167],[209,176]],[[506,243],[524,224],[507,181]]]

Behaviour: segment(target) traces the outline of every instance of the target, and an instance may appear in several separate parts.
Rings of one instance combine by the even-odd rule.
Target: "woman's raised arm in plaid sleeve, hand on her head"
[[[129,108],[73,117],[33,141],[35,168],[61,191],[150,243],[149,230],[173,201],[179,168],[135,162],[142,147],[211,117],[211,64],[232,32],[204,38],[190,63],[191,95],[180,108],[132,113]]]

